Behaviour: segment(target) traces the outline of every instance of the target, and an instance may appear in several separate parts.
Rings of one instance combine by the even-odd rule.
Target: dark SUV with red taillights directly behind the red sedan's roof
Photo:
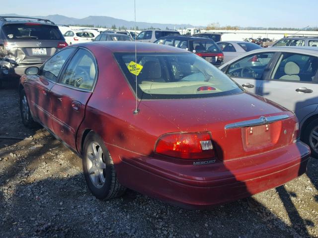
[[[211,39],[189,36],[166,36],[159,38],[154,43],[191,51],[217,66],[223,63],[223,52],[214,40]]]

